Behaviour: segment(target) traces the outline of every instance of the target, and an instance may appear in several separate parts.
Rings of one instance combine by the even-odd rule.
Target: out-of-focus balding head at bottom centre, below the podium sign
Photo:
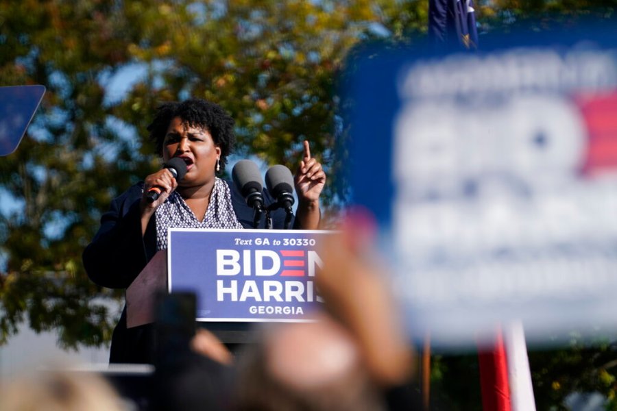
[[[339,323],[274,325],[239,370],[239,410],[383,409],[356,342]]]

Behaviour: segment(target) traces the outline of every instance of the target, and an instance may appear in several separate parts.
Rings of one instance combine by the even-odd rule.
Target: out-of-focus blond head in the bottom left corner
[[[116,390],[95,373],[44,370],[0,385],[2,411],[122,411]]]

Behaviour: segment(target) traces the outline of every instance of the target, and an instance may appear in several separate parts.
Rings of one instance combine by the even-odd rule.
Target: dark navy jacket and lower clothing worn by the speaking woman
[[[253,209],[247,206],[234,184],[231,190],[232,206],[244,228],[253,227]],[[143,182],[135,184],[112,200],[108,212],[101,216],[101,227],[83,254],[88,277],[99,286],[127,288],[156,253],[156,219],[150,219],[145,234],[141,235],[141,200]],[[267,190],[263,191],[266,204],[274,202]],[[265,214],[265,213],[264,213]],[[282,229],[285,211],[271,212],[273,228]],[[297,228],[298,221],[293,222]],[[265,228],[265,215],[258,228]],[[110,362],[152,363],[154,328],[152,324],[126,327],[126,306],[112,336]]]

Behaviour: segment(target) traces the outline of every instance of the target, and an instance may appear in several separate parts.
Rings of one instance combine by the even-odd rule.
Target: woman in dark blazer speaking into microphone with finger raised
[[[108,288],[130,286],[154,254],[167,249],[169,228],[254,226],[253,209],[239,190],[217,177],[233,148],[233,127],[233,119],[219,105],[202,99],[158,108],[148,126],[150,138],[163,162],[182,160],[186,174],[178,181],[173,170],[160,169],[112,200],[94,240],[84,250],[84,266],[93,282]],[[319,195],[325,183],[326,173],[311,158],[305,141],[295,175],[298,209],[293,228],[318,228]],[[274,201],[267,190],[263,197]],[[271,217],[273,227],[282,229],[285,211],[275,210]],[[125,307],[112,336],[110,362],[152,362],[153,333],[152,325],[127,328]]]

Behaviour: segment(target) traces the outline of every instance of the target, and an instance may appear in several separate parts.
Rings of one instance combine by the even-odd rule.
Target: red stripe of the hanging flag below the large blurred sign
[[[480,349],[478,360],[483,411],[511,411],[508,362],[501,331],[494,347]]]

